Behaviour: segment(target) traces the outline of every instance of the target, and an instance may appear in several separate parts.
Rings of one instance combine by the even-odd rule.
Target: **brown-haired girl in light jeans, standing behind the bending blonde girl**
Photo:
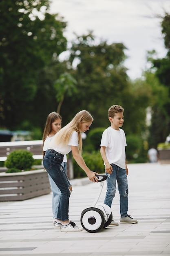
[[[50,141],[53,138],[53,136],[61,129],[62,127],[62,117],[56,113],[56,112],[51,112],[47,119],[46,119],[46,124],[44,128],[44,133],[43,133],[43,156],[45,155],[46,150],[49,148]],[[64,172],[66,173],[66,168],[67,168],[67,157],[64,155],[63,162],[62,162],[62,167],[64,169]],[[53,198],[52,198],[52,211],[53,211],[53,227],[54,229],[60,229],[60,227],[57,225],[57,213],[58,213],[58,207],[60,203],[60,197],[61,197],[61,191],[49,175],[49,182],[51,186],[51,191],[53,193]]]

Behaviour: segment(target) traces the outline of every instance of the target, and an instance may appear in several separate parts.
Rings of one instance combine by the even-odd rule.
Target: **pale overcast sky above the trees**
[[[89,30],[99,40],[123,43],[128,50],[124,65],[131,79],[141,77],[146,52],[155,49],[166,55],[160,20],[156,14],[170,13],[170,0],[52,0],[51,13],[59,13],[67,22],[68,41]]]

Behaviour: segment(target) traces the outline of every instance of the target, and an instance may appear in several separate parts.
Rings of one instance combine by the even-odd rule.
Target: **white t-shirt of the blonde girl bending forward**
[[[78,134],[76,131],[74,131],[72,133],[70,141],[68,142],[68,145],[59,144],[59,145],[53,146],[51,144],[51,146],[49,148],[53,148],[58,153],[60,153],[62,155],[66,155],[71,151],[71,146],[78,147]]]

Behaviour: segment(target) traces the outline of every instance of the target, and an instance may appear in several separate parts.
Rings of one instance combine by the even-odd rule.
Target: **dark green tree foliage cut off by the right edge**
[[[150,74],[147,74],[147,81],[150,84],[155,82],[153,88],[152,120],[150,126],[150,144],[157,145],[166,140],[170,133],[170,14],[165,13],[161,17],[162,34],[167,54],[164,58],[157,58],[155,52],[149,52],[148,61],[152,63]],[[151,82],[155,72],[155,78]],[[156,78],[159,81],[156,81]],[[159,85],[158,85],[159,84]],[[156,97],[157,95],[157,97]]]

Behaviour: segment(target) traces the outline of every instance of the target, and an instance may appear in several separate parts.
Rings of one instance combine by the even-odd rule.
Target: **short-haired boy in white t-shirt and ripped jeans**
[[[126,137],[124,130],[119,129],[124,123],[124,108],[113,105],[108,110],[111,126],[104,130],[101,140],[100,153],[104,160],[107,175],[107,192],[104,204],[110,208],[116,193],[116,180],[120,195],[120,223],[137,223],[128,212],[128,168],[126,166]],[[119,224],[112,220],[110,226]]]

